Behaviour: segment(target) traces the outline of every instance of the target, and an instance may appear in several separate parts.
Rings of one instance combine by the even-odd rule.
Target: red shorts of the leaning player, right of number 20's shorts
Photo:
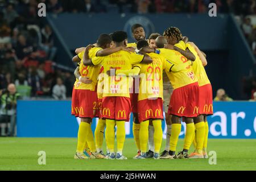
[[[187,118],[193,118],[199,115],[198,82],[174,89],[168,108],[168,114]]]

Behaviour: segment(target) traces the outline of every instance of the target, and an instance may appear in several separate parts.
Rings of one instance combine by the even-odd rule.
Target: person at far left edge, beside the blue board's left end
[[[6,92],[1,96],[0,122],[10,122],[11,125],[7,134],[9,137],[15,135],[16,105],[19,96],[14,84],[9,84]]]

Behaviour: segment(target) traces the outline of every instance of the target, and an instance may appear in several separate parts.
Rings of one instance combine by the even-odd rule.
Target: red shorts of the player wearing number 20
[[[163,100],[157,98],[156,100],[142,100],[138,103],[139,122],[148,119],[163,119]]]

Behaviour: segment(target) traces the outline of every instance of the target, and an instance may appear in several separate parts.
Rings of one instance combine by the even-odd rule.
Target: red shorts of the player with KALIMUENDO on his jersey
[[[131,100],[128,97],[103,97],[102,118],[130,121]]]

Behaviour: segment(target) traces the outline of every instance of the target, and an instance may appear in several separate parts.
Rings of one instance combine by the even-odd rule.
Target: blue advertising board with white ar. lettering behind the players
[[[256,139],[256,102],[214,102],[213,110],[208,117],[209,138]],[[18,137],[77,137],[79,123],[71,115],[71,101],[18,101]],[[93,131],[96,124],[94,119]],[[162,127],[165,138],[165,122]],[[180,138],[184,133],[182,123]],[[131,121],[126,123],[126,137],[133,138]]]

